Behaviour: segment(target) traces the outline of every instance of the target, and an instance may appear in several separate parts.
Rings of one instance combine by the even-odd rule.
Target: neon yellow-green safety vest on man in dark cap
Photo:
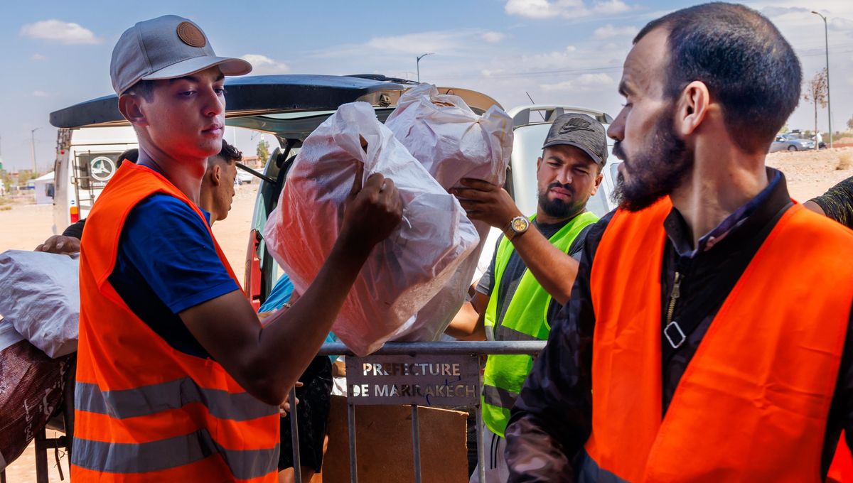
[[[531,216],[531,221],[534,219],[536,216]],[[598,221],[598,216],[589,211],[581,213],[554,233],[548,241],[560,251],[568,253],[578,233],[595,221]],[[548,331],[551,330],[548,325],[548,305],[552,297],[527,269],[521,276],[501,324],[495,326],[497,291],[513,251],[513,244],[506,238],[502,239],[497,247],[494,288],[485,311],[485,325],[487,330],[493,331],[496,341],[547,340]],[[486,359],[483,373],[483,421],[492,433],[503,437],[509,421],[509,410],[512,409],[532,366],[533,359],[524,354],[490,355]]]

